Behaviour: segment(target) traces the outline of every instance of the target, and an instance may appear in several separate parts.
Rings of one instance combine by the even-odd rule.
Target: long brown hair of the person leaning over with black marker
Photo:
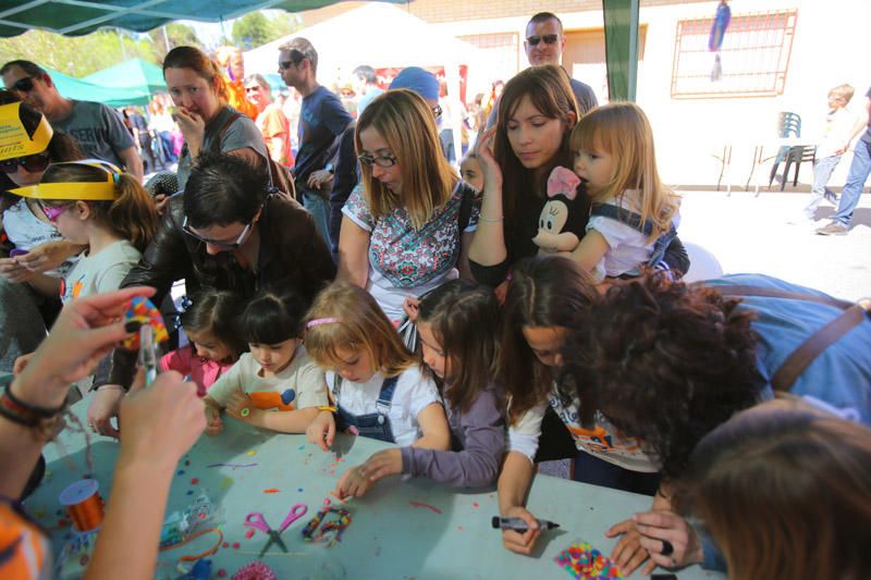
[[[554,380],[529,348],[524,326],[569,328],[598,299],[592,276],[568,258],[528,258],[514,268],[503,309],[501,374],[512,422],[545,400]]]

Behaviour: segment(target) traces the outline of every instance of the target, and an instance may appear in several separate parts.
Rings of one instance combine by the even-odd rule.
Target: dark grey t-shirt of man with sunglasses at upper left
[[[73,110],[51,125],[74,137],[88,157],[124,168],[121,151],[133,147],[133,136],[111,107],[100,102],[73,101]]]

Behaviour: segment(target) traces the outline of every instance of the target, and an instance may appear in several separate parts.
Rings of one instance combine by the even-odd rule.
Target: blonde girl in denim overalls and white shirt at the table
[[[327,370],[331,409],[307,430],[328,451],[336,427],[398,445],[447,449],[451,433],[436,382],[365,289],[334,283],[315,300],[306,348]]]

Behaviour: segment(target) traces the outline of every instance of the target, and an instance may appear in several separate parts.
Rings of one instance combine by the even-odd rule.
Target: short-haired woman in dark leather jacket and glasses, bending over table
[[[310,303],[335,267],[311,215],[270,192],[267,173],[246,159],[201,155],[184,195],[170,198],[154,240],[121,287],[157,288],[155,304],[179,280],[188,294],[214,288],[247,299],[261,289],[293,289]],[[110,422],[123,395],[118,385],[131,384],[134,367],[135,356],[116,350],[98,370],[88,409],[96,432],[118,434]]]

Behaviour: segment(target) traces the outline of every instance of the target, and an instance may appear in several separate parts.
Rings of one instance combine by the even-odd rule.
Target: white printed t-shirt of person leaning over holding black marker
[[[515,424],[510,425],[508,451],[522,453],[530,461],[535,460],[538,440],[541,435],[541,421],[544,419],[548,405],[550,405],[572,433],[578,449],[631,471],[659,471],[659,465],[645,454],[639,440],[624,435],[599,411],[596,412],[596,424],[592,429],[582,428],[578,419],[579,402],[573,399],[564,405],[561,399],[554,384],[549,400],[536,405],[526,411]]]

